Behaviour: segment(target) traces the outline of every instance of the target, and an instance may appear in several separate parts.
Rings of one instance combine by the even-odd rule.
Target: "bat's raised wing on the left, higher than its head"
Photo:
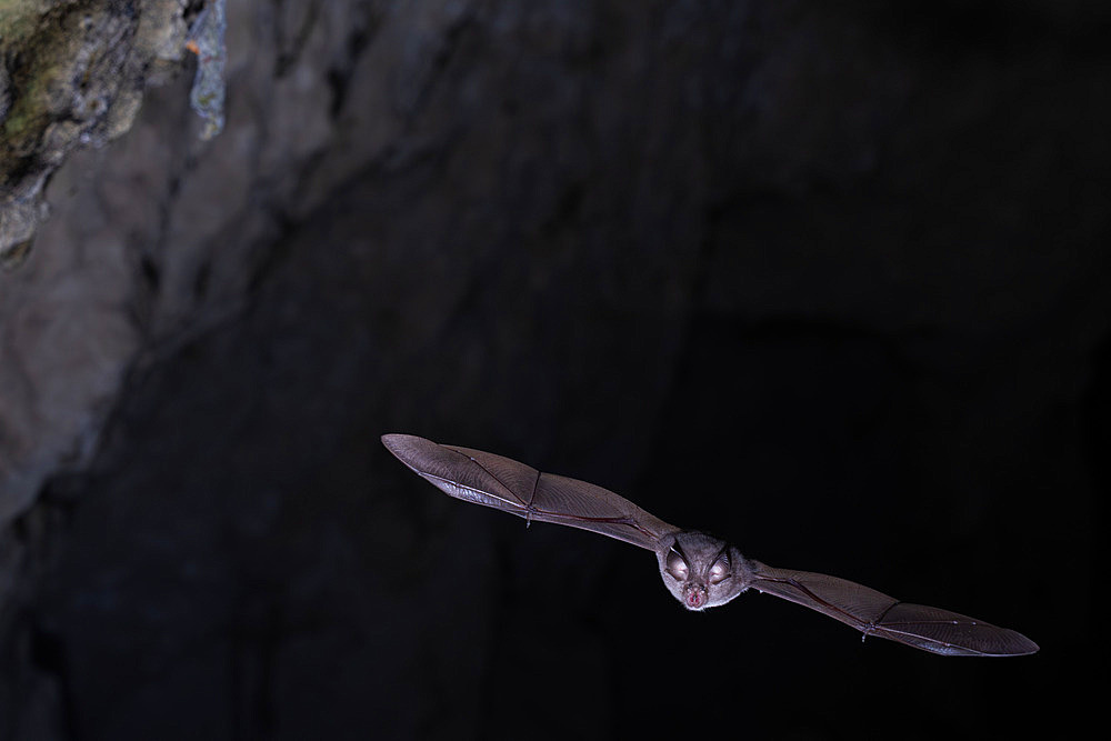
[[[628,499],[585,481],[540,471],[493,453],[441,445],[411,434],[383,434],[382,444],[444,493],[527,521],[556,522],[657,550],[678,530]]]

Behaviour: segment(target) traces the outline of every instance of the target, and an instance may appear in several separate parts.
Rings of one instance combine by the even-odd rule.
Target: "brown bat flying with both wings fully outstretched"
[[[688,610],[724,604],[753,589],[817,610],[875,635],[950,657],[1034,653],[1025,635],[967,615],[910,604],[862,584],[809,571],[774,569],[698,530],[668,524],[623,497],[585,481],[541,473],[493,453],[441,445],[411,434],[382,444],[417,475],[456,499],[533,521],[581,528],[653,551],[660,577]]]

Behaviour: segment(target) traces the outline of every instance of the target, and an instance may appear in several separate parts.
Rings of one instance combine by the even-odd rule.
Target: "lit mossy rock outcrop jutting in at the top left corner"
[[[187,0],[0,0],[0,267],[26,256],[50,173],[127,131],[180,66]]]

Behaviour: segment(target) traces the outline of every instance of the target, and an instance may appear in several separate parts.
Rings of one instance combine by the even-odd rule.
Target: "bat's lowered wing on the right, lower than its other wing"
[[[954,657],[1017,657],[1038,651],[1038,644],[1025,635],[967,615],[900,602],[837,577],[749,563],[752,589],[823,612],[864,635]]]

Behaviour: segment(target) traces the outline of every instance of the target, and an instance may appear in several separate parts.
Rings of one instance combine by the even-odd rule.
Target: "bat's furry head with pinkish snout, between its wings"
[[[688,610],[724,604],[744,591],[748,582],[740,551],[697,530],[669,537],[657,559],[668,591]]]

